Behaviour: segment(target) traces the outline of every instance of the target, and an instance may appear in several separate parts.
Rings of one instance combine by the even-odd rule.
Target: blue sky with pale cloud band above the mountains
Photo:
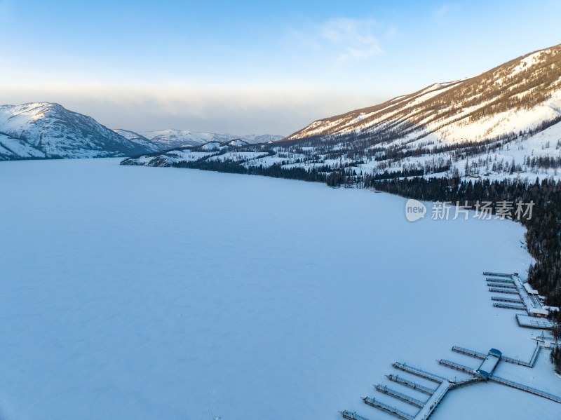
[[[561,43],[559,1],[0,0],[0,102],[288,135]]]

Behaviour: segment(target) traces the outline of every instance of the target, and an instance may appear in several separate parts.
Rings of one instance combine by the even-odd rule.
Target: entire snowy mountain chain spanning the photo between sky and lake
[[[0,159],[164,156],[167,150],[183,149],[189,156],[195,156],[191,151],[206,157],[225,154],[219,160],[241,166],[241,172],[255,166],[296,166],[323,174],[320,178],[340,170],[344,177],[556,175],[561,168],[560,121],[558,45],[478,76],[435,83],[373,107],[322,118],[285,139],[172,129],[109,130],[59,104],[4,105]],[[243,141],[229,143],[235,139]],[[205,144],[210,146],[201,148]],[[168,156],[151,164],[181,161],[175,152]]]

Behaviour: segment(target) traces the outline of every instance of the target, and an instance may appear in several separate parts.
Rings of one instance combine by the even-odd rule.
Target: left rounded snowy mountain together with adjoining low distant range
[[[220,135],[187,130],[110,130],[60,104],[0,106],[0,161],[26,158],[125,157],[208,142],[268,142],[280,135]]]

